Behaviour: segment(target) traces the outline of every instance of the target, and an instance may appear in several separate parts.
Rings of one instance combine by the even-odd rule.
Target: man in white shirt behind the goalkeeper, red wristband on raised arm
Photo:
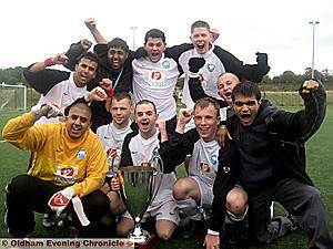
[[[83,53],[77,62],[74,72],[47,69],[51,65],[63,65],[68,63],[68,58],[63,53],[44,62],[36,62],[24,70],[23,75],[29,84],[43,95],[38,104],[53,103],[60,108],[73,103],[77,98],[84,96],[87,84],[95,76],[99,60],[94,53]],[[56,83],[56,85],[53,84]],[[38,124],[53,123],[58,118],[41,118]]]

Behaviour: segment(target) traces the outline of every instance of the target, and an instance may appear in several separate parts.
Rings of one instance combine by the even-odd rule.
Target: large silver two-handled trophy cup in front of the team
[[[134,230],[129,236],[134,243],[145,243],[150,240],[148,231],[141,228],[141,219],[159,191],[162,173],[163,163],[158,154],[153,155],[151,163],[143,166],[121,168],[121,197],[134,220]]]

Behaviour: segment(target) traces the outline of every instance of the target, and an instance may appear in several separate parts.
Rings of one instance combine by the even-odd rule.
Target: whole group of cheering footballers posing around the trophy
[[[42,96],[3,128],[9,143],[32,152],[28,174],[6,188],[9,235],[32,234],[34,211],[46,218],[70,214],[80,236],[112,212],[119,216],[117,232],[128,235],[134,222],[109,166],[151,166],[158,153],[163,178],[143,218],[155,218],[159,238],[168,240],[180,222],[195,224],[211,208],[208,249],[220,247],[224,222],[243,219],[259,242],[301,227],[309,248],[333,248],[327,212],[305,168],[304,143],[325,116],[320,82],[304,82],[305,108],[290,113],[262,101],[253,83],[270,70],[266,54],[243,64],[214,45],[219,34],[204,21],[191,25],[191,44],[167,48],[164,33],[152,29],[135,52],[122,39],[108,42],[93,19],[85,25],[98,43],[94,52],[82,40],[30,65],[24,77]],[[71,72],[48,69],[54,64]],[[176,117],[173,92],[183,74],[186,108]],[[176,179],[182,163],[188,177]],[[272,218],[272,201],[290,216]]]

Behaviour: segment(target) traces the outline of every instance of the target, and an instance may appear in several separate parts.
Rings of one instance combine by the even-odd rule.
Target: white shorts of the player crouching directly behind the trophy
[[[125,211],[122,217],[132,219],[129,211]],[[149,207],[149,209],[144,212],[142,221],[144,222],[145,218],[155,217],[157,220],[170,220],[174,222],[176,226],[179,224],[179,211],[174,200],[168,200],[159,206]]]

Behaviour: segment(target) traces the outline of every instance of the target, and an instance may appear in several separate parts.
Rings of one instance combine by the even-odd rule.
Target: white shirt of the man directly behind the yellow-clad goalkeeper
[[[47,95],[42,95],[38,104],[54,103],[63,111],[65,106],[73,103],[77,98],[84,96],[88,93],[87,86],[78,87],[74,83],[73,74],[71,73],[68,80],[54,85]],[[58,121],[59,117],[41,117],[36,124],[50,124]]]

